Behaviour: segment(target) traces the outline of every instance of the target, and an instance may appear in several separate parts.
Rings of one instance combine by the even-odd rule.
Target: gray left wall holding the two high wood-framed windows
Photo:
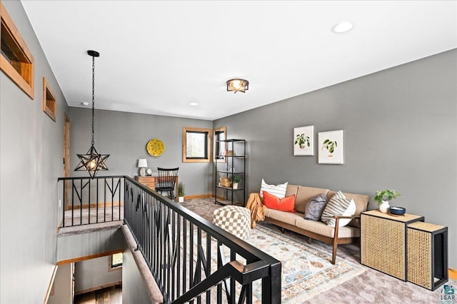
[[[34,55],[34,100],[0,72],[0,303],[43,302],[56,261],[66,101],[20,1],[2,1]],[[43,76],[57,122],[41,109]]]

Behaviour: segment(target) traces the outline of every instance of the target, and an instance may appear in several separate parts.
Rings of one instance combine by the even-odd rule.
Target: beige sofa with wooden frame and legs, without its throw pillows
[[[356,203],[356,214],[352,217],[335,216],[336,228],[327,226],[321,221],[308,221],[304,218],[306,204],[311,198],[318,196],[321,193],[326,193],[327,201],[336,193],[323,188],[311,188],[306,186],[288,185],[286,196],[295,194],[295,210],[296,213],[277,211],[266,208],[265,221],[273,223],[281,228],[295,231],[302,235],[308,236],[310,239],[321,240],[325,243],[333,245],[333,253],[331,263],[335,264],[336,249],[339,244],[356,243],[360,238],[360,213],[366,211],[368,206],[368,196],[362,194],[343,193],[347,198],[353,198]],[[351,223],[341,228],[338,228],[340,218],[353,218]]]

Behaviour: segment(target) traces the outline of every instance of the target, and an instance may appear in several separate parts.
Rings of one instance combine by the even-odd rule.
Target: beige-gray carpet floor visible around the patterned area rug
[[[208,221],[212,221],[213,211],[221,207],[214,203],[214,198],[189,200],[182,203],[182,206],[189,208]],[[274,225],[262,222],[259,222],[258,225],[276,230],[279,233],[278,228]],[[299,242],[306,243],[307,239],[302,235],[287,230],[284,234]],[[328,260],[330,260],[331,245],[313,240],[312,246],[328,253]],[[328,284],[322,288],[320,293],[294,303],[303,303],[304,301],[306,303],[440,303],[441,287],[432,292],[413,283],[404,282],[367,268],[359,264],[360,250],[355,245],[338,246],[337,263],[341,259],[357,263],[365,268],[365,271],[336,286]],[[453,285],[455,288],[457,281],[450,280],[446,285]]]

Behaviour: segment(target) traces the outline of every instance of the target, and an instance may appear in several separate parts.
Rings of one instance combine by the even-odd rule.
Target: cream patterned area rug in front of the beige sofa
[[[263,226],[253,229],[246,242],[281,260],[282,303],[303,303],[366,269],[341,258],[333,265],[328,252]],[[261,295],[260,286],[253,286],[253,294]]]

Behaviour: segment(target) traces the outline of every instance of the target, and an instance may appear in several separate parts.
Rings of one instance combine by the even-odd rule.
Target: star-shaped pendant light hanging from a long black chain
[[[100,54],[97,51],[87,51],[87,54],[92,56],[92,145],[86,154],[77,154],[80,162],[74,171],[89,171],[91,178],[94,178],[99,171],[108,170],[105,161],[106,158],[109,158],[109,154],[99,154],[94,147],[95,57],[99,57]]]

